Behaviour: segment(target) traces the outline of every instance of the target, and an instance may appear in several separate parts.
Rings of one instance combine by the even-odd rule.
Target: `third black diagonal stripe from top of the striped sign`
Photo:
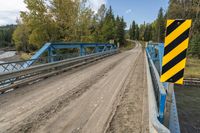
[[[167,64],[165,64],[162,67],[162,74],[167,72],[169,69],[171,69],[173,66],[178,64],[180,61],[182,61],[186,57],[186,51],[187,49],[183,50],[179,55],[177,55],[175,58],[170,60]]]

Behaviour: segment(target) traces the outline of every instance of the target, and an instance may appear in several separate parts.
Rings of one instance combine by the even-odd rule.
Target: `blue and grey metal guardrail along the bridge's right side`
[[[152,123],[155,123],[157,126],[159,124],[159,127],[154,126],[156,127],[156,132],[180,133],[175,94],[172,87],[173,85],[160,82],[159,73],[161,73],[162,69],[161,63],[164,54],[163,47],[164,44],[160,43],[147,45],[146,48],[147,63],[150,74],[148,76],[151,78],[149,86],[152,85],[152,90],[149,92],[149,95],[152,95],[152,98],[155,99],[155,101],[150,101],[149,104],[154,104],[155,102],[157,111],[154,112],[157,113],[157,119],[155,119],[155,114],[153,114],[155,118],[154,121],[152,120]],[[159,123],[157,120],[159,120]]]

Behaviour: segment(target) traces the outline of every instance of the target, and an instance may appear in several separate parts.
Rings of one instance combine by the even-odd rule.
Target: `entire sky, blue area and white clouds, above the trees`
[[[0,25],[16,24],[19,12],[27,10],[23,1],[0,0]],[[115,15],[124,17],[128,28],[133,20],[138,24],[153,22],[160,7],[167,9],[168,0],[89,0],[89,4],[95,12],[101,4],[111,5]]]

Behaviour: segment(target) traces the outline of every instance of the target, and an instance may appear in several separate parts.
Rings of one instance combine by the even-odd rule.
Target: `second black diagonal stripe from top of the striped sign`
[[[166,54],[168,54],[172,49],[174,49],[175,47],[177,47],[180,43],[182,43],[185,39],[188,38],[188,36],[189,36],[189,30],[190,30],[190,28],[188,28],[186,31],[184,31],[180,36],[178,36],[175,40],[173,40],[170,44],[168,44],[165,47],[164,56]]]

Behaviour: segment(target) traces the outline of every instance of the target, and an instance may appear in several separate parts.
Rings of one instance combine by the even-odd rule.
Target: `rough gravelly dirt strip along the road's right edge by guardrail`
[[[144,54],[144,53],[143,53]],[[148,133],[148,104],[144,56],[132,71],[107,133]]]

